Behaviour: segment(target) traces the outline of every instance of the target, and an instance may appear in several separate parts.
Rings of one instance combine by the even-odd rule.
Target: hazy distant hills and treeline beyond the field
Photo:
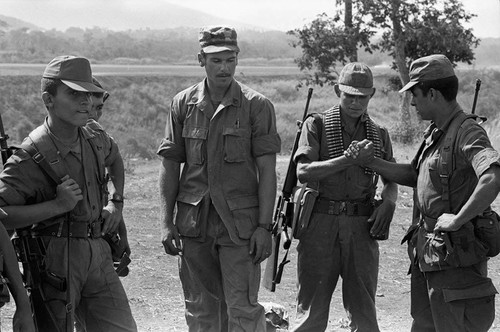
[[[107,13],[103,24],[128,27],[121,31],[98,26],[44,30],[32,23],[0,15],[0,32],[4,32],[3,35],[0,33],[0,63],[46,63],[54,54],[80,54],[95,63],[196,64],[199,28],[216,23],[237,28],[242,49],[240,59],[250,59],[252,64],[293,65],[293,59],[301,55],[300,48],[290,46],[294,37],[286,32],[266,31],[182,6],[159,4],[153,12],[145,8],[140,13],[133,13],[122,6],[115,8],[112,15]],[[146,24],[149,28],[133,28]],[[19,40],[23,42],[17,42]],[[498,67],[500,38],[484,38],[474,53],[477,68]],[[388,54],[377,51],[369,54],[360,50],[359,59],[370,66],[390,65],[392,62]]]

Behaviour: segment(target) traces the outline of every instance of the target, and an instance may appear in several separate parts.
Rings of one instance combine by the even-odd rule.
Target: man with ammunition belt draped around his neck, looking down
[[[375,93],[370,68],[359,62],[341,71],[335,92],[339,104],[306,119],[294,159],[300,182],[319,191],[308,228],[300,235],[297,313],[293,331],[324,331],[339,276],[352,331],[379,331],[375,310],[379,249],[387,239],[397,186],[348,159],[351,142],[371,138],[380,158],[393,162],[388,132],[368,115]]]

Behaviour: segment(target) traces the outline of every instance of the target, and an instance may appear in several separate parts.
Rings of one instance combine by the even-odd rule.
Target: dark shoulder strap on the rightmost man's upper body
[[[455,142],[457,139],[458,130],[462,124],[467,119],[476,119],[475,114],[466,114],[464,112],[459,112],[453,120],[451,120],[450,126],[444,135],[444,144],[440,151],[439,156],[439,178],[441,181],[442,193],[441,199],[448,202],[448,207],[451,211],[451,200],[450,200],[450,178],[455,170],[455,158],[454,149]]]

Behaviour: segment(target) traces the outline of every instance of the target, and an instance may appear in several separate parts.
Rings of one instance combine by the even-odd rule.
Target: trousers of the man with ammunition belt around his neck
[[[339,276],[351,331],[379,331],[375,310],[379,249],[370,238],[367,219],[312,215],[297,246],[299,289],[292,331],[326,330]]]

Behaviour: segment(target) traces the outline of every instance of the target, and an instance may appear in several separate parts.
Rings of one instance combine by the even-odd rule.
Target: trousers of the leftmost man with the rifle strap
[[[67,275],[68,241],[44,236],[47,270]],[[70,238],[70,295],[76,319],[87,332],[136,332],[125,290],[113,268],[111,248],[102,238]],[[47,306],[66,331],[66,292],[42,283]],[[73,317],[74,319],[74,317]],[[48,331],[47,331],[48,332]],[[54,332],[54,331],[50,331]]]

